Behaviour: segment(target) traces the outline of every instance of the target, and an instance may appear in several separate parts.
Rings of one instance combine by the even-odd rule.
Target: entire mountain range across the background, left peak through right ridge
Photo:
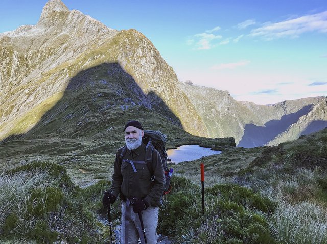
[[[143,110],[193,135],[234,137],[243,147],[275,145],[327,126],[326,97],[256,105],[179,82],[142,33],[108,28],[60,0],[46,3],[36,25],[1,33],[0,52],[4,141],[62,133],[114,138],[118,130],[108,129],[118,126],[115,116]]]

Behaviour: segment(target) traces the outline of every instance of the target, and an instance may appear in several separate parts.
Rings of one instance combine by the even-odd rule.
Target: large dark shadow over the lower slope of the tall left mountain
[[[0,158],[15,153],[65,153],[83,147],[74,139],[90,141],[90,145],[98,141],[102,147],[100,141],[122,141],[124,125],[130,119],[139,120],[145,129],[182,128],[165,102],[154,92],[144,94],[119,63],[103,63],[71,78],[62,98],[33,128],[2,140]]]

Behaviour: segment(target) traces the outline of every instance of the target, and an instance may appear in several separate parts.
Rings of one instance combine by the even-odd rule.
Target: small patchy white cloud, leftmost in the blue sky
[[[219,31],[220,27],[216,26],[211,30],[206,30],[204,33],[195,34],[187,40],[188,45],[195,45],[196,49],[211,49],[214,46],[214,40],[221,39],[221,35],[215,35],[213,32]]]

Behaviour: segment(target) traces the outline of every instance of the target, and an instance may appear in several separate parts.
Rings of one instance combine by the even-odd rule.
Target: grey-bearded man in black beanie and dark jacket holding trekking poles
[[[153,149],[151,168],[146,164],[146,145],[141,123],[129,121],[124,128],[124,147],[118,149],[114,161],[114,173],[110,191],[104,192],[104,205],[113,204],[120,194],[122,202],[121,243],[145,243],[141,218],[145,227],[147,243],[157,243],[157,225],[161,196],[166,188],[165,174],[160,154]],[[124,152],[125,151],[125,152]],[[123,155],[124,154],[124,155]],[[132,211],[131,211],[132,210]]]

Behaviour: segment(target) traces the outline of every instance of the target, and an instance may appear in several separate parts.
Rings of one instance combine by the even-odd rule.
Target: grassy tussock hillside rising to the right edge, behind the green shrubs
[[[199,218],[202,218],[199,213],[200,162],[205,164],[207,193],[205,197],[207,212],[205,220],[200,221],[201,224],[198,223]],[[176,221],[179,229],[175,235],[181,243],[182,241],[183,243],[266,243],[251,239],[253,236],[250,238],[242,234],[242,228],[245,228],[242,222],[244,215],[233,215],[234,224],[231,224],[228,222],[230,216],[217,212],[217,199],[208,194],[218,188],[215,192],[223,198],[224,204],[235,202],[235,198],[238,197],[245,202],[248,201],[246,199],[250,199],[249,195],[244,192],[240,194],[239,186],[244,189],[242,191],[251,189],[259,194],[263,197],[260,201],[268,197],[276,204],[276,209],[270,213],[263,213],[259,208],[252,212],[252,214],[259,213],[267,221],[268,227],[264,227],[266,229],[262,233],[269,233],[269,236],[274,239],[268,243],[273,241],[327,243],[327,129],[276,147],[252,149],[227,147],[221,155],[184,162],[176,165],[175,168],[179,172],[177,174],[179,177],[183,176],[190,180],[189,190],[184,194],[190,194],[190,197],[196,196],[196,203],[190,205],[198,214],[196,217],[192,216],[188,208],[182,208],[182,211],[185,211],[182,218],[185,218],[185,221],[187,219],[187,223],[193,224],[181,225]],[[182,191],[178,186],[175,187],[179,192]],[[196,190],[192,187],[196,187]],[[174,196],[169,196],[169,200],[174,201]],[[238,206],[245,206],[251,212],[252,201],[238,202]],[[219,207],[225,208],[222,205]],[[233,207],[230,205],[228,209]],[[255,218],[254,215],[251,218]],[[220,221],[220,225],[217,225],[217,220]],[[250,228],[250,225],[250,222],[245,224],[247,228]],[[237,233],[231,233],[232,229]],[[206,237],[201,235],[203,231]],[[249,229],[245,232],[251,233]],[[224,235],[230,242],[223,237]],[[237,238],[233,239],[235,237]]]

